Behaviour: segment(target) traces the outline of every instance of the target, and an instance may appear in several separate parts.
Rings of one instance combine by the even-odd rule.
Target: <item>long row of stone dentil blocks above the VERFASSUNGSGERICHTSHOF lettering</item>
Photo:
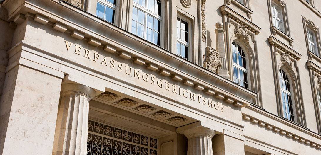
[[[41,24],[49,24],[53,27],[53,29],[62,32],[64,31],[69,33],[71,35],[71,37],[74,37],[76,39],[82,40],[85,39],[88,41],[88,44],[93,45],[95,47],[98,46],[102,46],[102,48],[109,52],[109,53],[115,53],[116,51],[116,47],[111,45],[111,44],[106,44],[103,45],[102,41],[98,38],[94,38],[93,36],[90,36],[89,34],[86,34],[85,37],[85,33],[74,29],[74,30],[70,30],[70,29],[66,29],[67,26],[56,21],[55,23],[49,21],[49,18],[41,15],[39,13],[37,13],[36,15],[27,12],[25,15],[23,14],[18,14],[17,17],[15,18],[14,21],[19,21],[19,23],[22,23],[23,20],[26,20],[27,17],[33,18],[34,21],[37,21]],[[218,98],[218,99],[224,99],[225,102],[227,103],[233,103],[233,105],[237,106],[237,107],[245,107],[248,106],[250,103],[249,101],[246,101],[242,98],[239,98],[237,96],[232,96],[231,94],[228,94],[228,92],[225,92],[224,90],[220,90],[220,89],[213,89],[213,86],[206,86],[206,84],[199,84],[198,82],[193,81],[192,79],[189,79],[187,77],[183,77],[181,75],[179,75],[178,73],[176,73],[175,71],[166,69],[165,67],[153,64],[153,63],[148,63],[145,64],[143,62],[145,62],[145,60],[143,58],[140,57],[132,57],[132,54],[128,51],[125,50],[120,50],[119,57],[124,58],[124,59],[133,59],[133,62],[139,65],[146,65],[146,68],[151,69],[152,71],[159,71],[160,74],[164,75],[164,76],[172,76],[172,79],[176,80],[176,81],[183,81],[183,84],[187,85],[187,86],[193,86],[194,89],[196,90],[201,90],[204,91],[204,93],[209,94],[209,95],[214,95],[214,97]],[[202,87],[200,87],[202,86]],[[204,89],[203,89],[204,87]],[[256,97],[256,95],[254,93],[251,94],[253,97]],[[253,98],[252,97],[252,98]]]

